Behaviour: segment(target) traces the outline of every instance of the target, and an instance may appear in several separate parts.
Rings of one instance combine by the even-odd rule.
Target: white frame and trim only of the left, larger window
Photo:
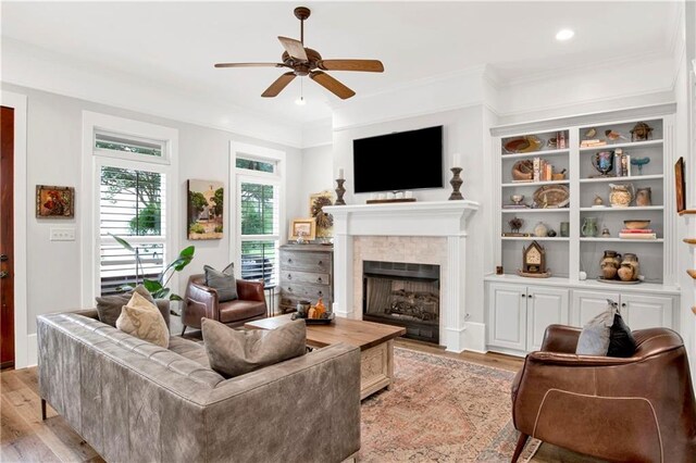
[[[96,148],[96,134],[101,132],[109,135],[134,137],[162,142],[162,157],[138,154]],[[178,130],[171,127],[127,120],[107,114],[83,111],[83,187],[84,195],[78,195],[76,205],[85,211],[87,217],[82,222],[83,237],[82,259],[82,305],[92,306],[95,297],[101,292],[101,245],[100,227],[100,187],[101,167],[104,165],[130,168],[136,171],[158,172],[164,175],[164,237],[142,236],[129,237],[128,241],[137,245],[147,242],[164,243],[164,263],[171,255],[178,252],[178,205],[181,192],[178,183]],[[174,292],[181,292],[178,275],[174,274],[170,280]]]

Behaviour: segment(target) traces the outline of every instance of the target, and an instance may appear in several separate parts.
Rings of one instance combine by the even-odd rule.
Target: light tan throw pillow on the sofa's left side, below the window
[[[123,306],[116,320],[116,328],[163,348],[170,345],[170,330],[160,310],[139,292],[134,292],[128,303]]]

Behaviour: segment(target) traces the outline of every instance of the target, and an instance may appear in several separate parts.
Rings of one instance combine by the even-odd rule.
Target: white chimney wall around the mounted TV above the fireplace
[[[445,201],[449,198],[451,187],[449,179],[452,166],[452,153],[461,153],[464,184],[461,192],[465,199],[477,201],[483,204],[471,218],[467,240],[467,311],[471,315],[469,322],[483,323],[483,276],[490,271],[490,265],[486,268],[485,249],[489,247],[488,235],[486,233],[487,212],[486,205],[490,203],[488,186],[485,183],[490,176],[490,163],[485,155],[484,145],[487,145],[489,135],[487,127],[484,129],[484,108],[481,104],[462,108],[458,110],[437,112],[434,114],[415,117],[386,121],[377,124],[364,125],[355,128],[346,128],[334,132],[334,167],[335,173],[338,167],[344,167],[346,175],[346,202],[350,204],[361,204],[369,198],[368,193],[355,195],[352,190],[352,140],[356,138],[372,137],[390,134],[393,132],[412,130],[418,128],[443,125],[443,157],[445,170],[443,172],[445,188],[426,189],[414,191],[414,197],[419,201]],[[488,114],[489,115],[489,114]],[[486,123],[489,122],[488,115]],[[419,164],[428,162],[418,152],[401,153],[401,162],[410,168],[419,168]],[[389,172],[384,173],[390,175]]]

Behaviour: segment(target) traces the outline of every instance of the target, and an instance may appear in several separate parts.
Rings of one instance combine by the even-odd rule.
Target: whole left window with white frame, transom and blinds
[[[83,111],[83,305],[125,284],[157,278],[172,260],[178,248],[177,149],[176,129]],[[167,286],[181,291],[176,274]]]

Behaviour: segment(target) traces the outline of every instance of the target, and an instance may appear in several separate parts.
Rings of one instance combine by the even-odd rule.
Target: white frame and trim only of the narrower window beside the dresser
[[[257,160],[262,162],[272,162],[275,164],[273,173],[262,171],[251,171],[247,168],[237,167],[237,158],[244,158],[248,160]],[[235,141],[229,142],[229,165],[231,165],[231,179],[229,185],[234,185],[235,198],[229,198],[228,201],[228,216],[229,216],[229,229],[234,230],[229,239],[229,250],[233,255],[233,262],[235,268],[238,268],[238,275],[241,275],[241,183],[264,183],[274,185],[278,191],[278,233],[277,235],[248,235],[244,240],[275,240],[278,241],[278,247],[283,243],[283,237],[287,230],[286,224],[286,153],[285,151],[275,150],[272,148],[259,147],[256,145],[239,143]],[[233,190],[231,188],[231,190]],[[232,196],[232,191],[231,191]],[[232,205],[234,204],[234,210]],[[251,237],[251,238],[249,238]],[[278,250],[276,250],[276,255]],[[278,260],[279,263],[279,260]],[[278,272],[276,267],[274,272]],[[277,279],[277,275],[276,275]]]

